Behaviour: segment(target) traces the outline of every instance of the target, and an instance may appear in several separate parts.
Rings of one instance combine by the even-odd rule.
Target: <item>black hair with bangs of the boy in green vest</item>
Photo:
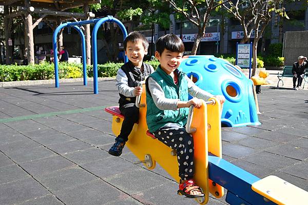
[[[163,51],[166,49],[171,52],[183,53],[184,43],[175,34],[167,34],[164,36],[159,37],[156,41],[156,51],[161,55]]]

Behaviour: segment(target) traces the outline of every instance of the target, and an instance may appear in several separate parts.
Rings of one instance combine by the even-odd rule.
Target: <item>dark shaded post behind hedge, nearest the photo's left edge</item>
[[[9,15],[9,6],[4,6],[5,16]],[[5,45],[6,45],[6,64],[9,65],[13,62],[12,58],[12,45],[9,45],[9,39],[11,39],[11,24],[10,19],[4,18],[4,27],[5,27]]]

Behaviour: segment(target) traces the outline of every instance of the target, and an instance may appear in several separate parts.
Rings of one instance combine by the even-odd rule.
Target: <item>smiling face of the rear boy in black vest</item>
[[[147,49],[143,47],[142,40],[137,42],[128,41],[126,45],[125,55],[134,66],[141,67],[144,55],[147,54]]]

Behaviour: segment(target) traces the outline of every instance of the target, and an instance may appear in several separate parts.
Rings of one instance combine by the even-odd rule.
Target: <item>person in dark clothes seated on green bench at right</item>
[[[292,73],[293,73],[293,89],[298,89],[301,86],[305,75],[305,69],[308,67],[307,57],[299,56],[298,61],[293,63]],[[296,85],[297,80],[297,86]]]

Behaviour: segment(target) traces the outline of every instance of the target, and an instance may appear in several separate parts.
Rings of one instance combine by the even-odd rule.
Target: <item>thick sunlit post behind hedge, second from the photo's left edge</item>
[[[30,1],[25,0],[25,7],[30,7]],[[25,47],[27,47],[27,58],[28,58],[28,64],[34,64],[34,41],[33,41],[33,29],[32,29],[32,16],[30,12],[25,13],[25,32],[26,32],[26,38],[25,40],[27,44],[25,44]]]

